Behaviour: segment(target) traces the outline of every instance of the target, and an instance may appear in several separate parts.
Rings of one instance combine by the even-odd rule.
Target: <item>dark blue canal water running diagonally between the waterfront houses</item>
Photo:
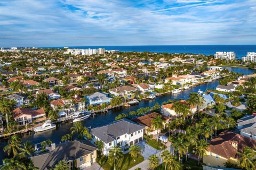
[[[237,67],[225,67],[225,69],[229,69],[230,71],[242,73],[242,74],[252,74],[253,70],[246,69],[246,68],[237,68]],[[201,84],[199,86],[196,86],[191,89],[184,90],[180,92],[179,94],[166,94],[157,97],[156,99],[147,99],[140,101],[139,105],[130,106],[130,107],[123,107],[116,110],[111,110],[108,113],[102,113],[98,114],[94,117],[89,117],[87,120],[83,121],[84,126],[95,128],[99,127],[108,123],[111,123],[115,121],[115,117],[118,114],[125,113],[129,114],[131,111],[136,111],[137,109],[141,107],[148,107],[148,106],[154,106],[157,102],[158,104],[162,104],[164,101],[167,101],[169,99],[188,99],[190,92],[198,92],[198,90],[206,91],[207,89],[215,89],[219,84],[219,80],[212,81],[210,83]],[[44,140],[51,139],[52,142],[59,143],[61,140],[61,137],[67,133],[70,133],[70,128],[73,126],[72,123],[60,123],[57,125],[56,129],[47,130],[44,132],[30,132],[29,134],[23,134],[22,135],[22,141],[29,140],[33,144],[40,143]],[[6,145],[7,139],[0,141],[0,165],[2,163],[2,159],[7,157],[6,153],[3,151],[3,147]]]

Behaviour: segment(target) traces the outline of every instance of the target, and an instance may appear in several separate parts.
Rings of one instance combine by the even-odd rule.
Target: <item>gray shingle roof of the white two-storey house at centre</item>
[[[103,142],[109,143],[116,140],[115,137],[123,134],[131,134],[142,129],[145,129],[145,127],[124,118],[106,126],[94,128],[91,130],[91,133]]]

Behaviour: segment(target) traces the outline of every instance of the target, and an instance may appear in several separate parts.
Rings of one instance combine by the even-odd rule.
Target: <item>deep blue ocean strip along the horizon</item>
[[[237,58],[246,56],[247,52],[256,52],[256,45],[166,45],[166,46],[67,46],[69,48],[88,49],[105,48],[121,52],[155,52],[155,53],[192,53],[214,55],[215,52],[235,52]],[[42,47],[63,48],[63,47]]]

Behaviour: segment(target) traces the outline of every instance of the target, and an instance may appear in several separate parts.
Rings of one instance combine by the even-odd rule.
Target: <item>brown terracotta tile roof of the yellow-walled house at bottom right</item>
[[[232,146],[232,143],[237,143],[237,149]],[[237,151],[243,152],[245,146],[256,147],[256,140],[230,131],[223,131],[211,140],[208,150],[227,159],[230,157],[238,159]]]

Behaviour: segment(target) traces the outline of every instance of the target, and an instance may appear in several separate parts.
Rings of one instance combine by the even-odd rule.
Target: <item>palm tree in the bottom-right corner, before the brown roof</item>
[[[255,157],[255,151],[252,150],[249,147],[245,147],[243,152],[237,152],[237,154],[240,156],[238,159],[239,166],[243,169],[252,169],[254,167],[254,163],[252,162],[252,159]]]

